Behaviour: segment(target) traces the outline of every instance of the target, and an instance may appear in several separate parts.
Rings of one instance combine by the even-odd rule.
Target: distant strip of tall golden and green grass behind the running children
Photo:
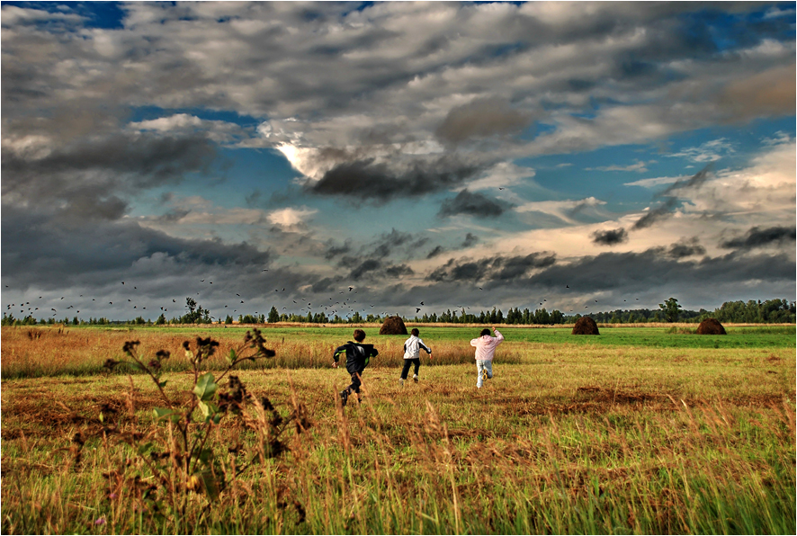
[[[659,349],[786,349],[794,348],[794,326],[728,326],[728,335],[694,335],[669,333],[673,329],[694,329],[694,325],[680,327],[602,327],[601,335],[570,335],[571,327],[509,327],[499,326],[506,337],[505,362],[525,362],[549,346],[557,348],[629,347]],[[102,371],[108,358],[121,358],[125,341],[140,340],[148,352],[168,350],[182,353],[185,340],[211,336],[221,343],[219,354],[237,346],[246,334],[246,326],[168,326],[168,327],[9,327],[2,328],[4,379],[53,376],[58,374],[95,374]],[[262,328],[269,344],[277,351],[277,358],[265,367],[324,368],[333,350],[352,339],[351,326]],[[379,326],[364,326],[366,342],[375,344],[381,355],[372,366],[400,366],[403,355],[402,335],[379,335]],[[421,338],[433,347],[435,364],[471,362],[470,339],[479,335],[479,326],[421,326]],[[583,350],[580,350],[583,351]],[[167,365],[172,370],[184,369],[180,360]],[[211,368],[213,364],[210,364]],[[218,366],[223,366],[219,360]]]

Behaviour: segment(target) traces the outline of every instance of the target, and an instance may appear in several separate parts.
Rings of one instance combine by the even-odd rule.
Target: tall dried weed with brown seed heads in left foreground
[[[176,532],[190,532],[191,528],[181,523],[195,494],[205,496],[205,509],[219,505],[221,492],[230,488],[247,469],[263,465],[287,450],[280,438],[291,422],[296,433],[310,427],[307,410],[295,397],[293,412],[283,417],[268,398],[258,400],[247,393],[237,376],[229,375],[227,389],[219,389],[220,381],[241,362],[275,355],[265,347],[261,332],[252,331],[254,335],[246,332],[244,343],[229,351],[228,366],[218,379],[211,372],[201,373],[201,365],[214,355],[219,343],[198,337],[193,348],[188,341],[183,344],[193,371],[193,390],[187,400],[166,394],[167,382],[162,380],[163,362],[170,358],[166,351],[158,351],[153,359],[146,360],[138,353],[139,342],[130,341],[123,348],[130,361],[106,362],[109,370],[129,366],[147,374],[165,405],[153,409],[156,422],[165,425],[151,426],[146,431],[139,431],[135,414],[128,425],[121,419],[107,422],[107,417],[100,414],[103,426],[98,433],[103,444],[109,447],[112,443],[108,439],[114,437],[116,442],[130,447],[115,468],[103,473],[109,496],[119,500],[128,497],[139,514],[160,523],[171,523]],[[232,419],[239,429],[253,432],[254,446],[245,449],[242,442],[225,442],[221,434],[214,433],[225,417]],[[84,445],[79,433],[74,443],[73,458],[79,460]]]

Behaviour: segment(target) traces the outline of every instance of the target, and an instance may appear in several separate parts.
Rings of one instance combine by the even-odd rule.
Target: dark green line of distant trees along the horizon
[[[161,313],[159,317],[153,322],[152,320],[145,319],[144,317],[136,317],[132,320],[109,320],[105,317],[90,317],[88,320],[79,319],[74,317],[71,320],[64,317],[61,320],[56,318],[40,319],[37,320],[32,316],[23,318],[15,318],[13,315],[6,315],[4,313],[3,320],[0,322],[3,326],[36,326],[36,325],[52,325],[64,324],[73,326],[106,326],[106,325],[136,325],[136,326],[163,326],[166,324],[211,324],[216,322],[214,317],[210,316],[210,310],[202,308],[192,298],[186,298],[185,305],[187,312],[181,317],[174,317],[169,320]],[[705,318],[716,318],[720,322],[725,323],[738,323],[738,324],[794,324],[797,320],[795,316],[795,302],[788,299],[767,299],[766,301],[750,299],[745,301],[726,301],[721,307],[713,311],[700,309],[699,311],[686,310],[681,308],[677,303],[677,299],[670,298],[664,303],[659,304],[658,309],[615,309],[613,311],[603,311],[588,313],[587,315],[575,314],[565,315],[557,309],[550,312],[546,308],[539,308],[532,311],[529,308],[509,308],[504,312],[499,308],[492,308],[488,311],[479,311],[479,314],[467,313],[465,309],[460,311],[446,309],[440,314],[432,313],[424,314],[423,317],[402,317],[405,322],[414,322],[418,324],[509,324],[509,325],[560,325],[560,324],[573,324],[578,318],[582,316],[592,317],[601,324],[644,324],[648,322],[694,322],[698,323]],[[239,324],[264,324],[277,323],[277,322],[297,322],[306,324],[380,324],[384,321],[384,317],[380,315],[367,315],[363,317],[359,312],[354,312],[350,317],[340,317],[335,315],[327,317],[323,312],[313,313],[308,312],[307,315],[300,315],[295,313],[282,313],[277,311],[276,307],[272,307],[266,317],[264,314],[260,315],[238,315],[234,319],[227,315],[223,323],[230,325],[234,322]],[[219,318],[219,322],[222,322]]]

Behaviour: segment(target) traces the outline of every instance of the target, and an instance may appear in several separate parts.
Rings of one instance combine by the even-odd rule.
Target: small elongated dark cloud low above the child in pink
[[[556,263],[556,255],[533,253],[519,256],[493,256],[469,261],[450,259],[426,276],[426,281],[515,281],[533,269]]]

